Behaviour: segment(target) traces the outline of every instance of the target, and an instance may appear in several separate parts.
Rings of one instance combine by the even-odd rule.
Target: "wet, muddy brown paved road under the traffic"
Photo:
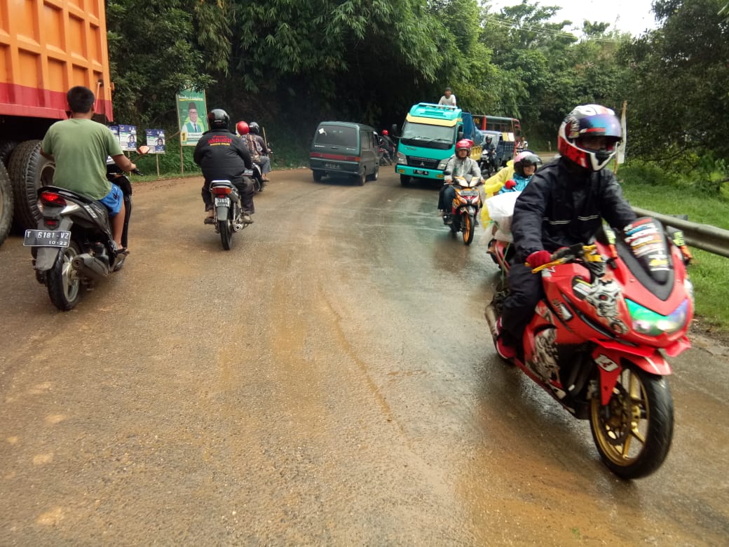
[[[1,545],[728,543],[725,349],[673,360],[671,453],[620,481],[494,354],[483,233],[432,188],[273,175],[230,252],[200,179],[136,185],[68,313],[1,247]]]

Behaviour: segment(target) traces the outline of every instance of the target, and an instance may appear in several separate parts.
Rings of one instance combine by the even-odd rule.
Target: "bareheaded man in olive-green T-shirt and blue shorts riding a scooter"
[[[106,158],[111,156],[122,171],[134,171],[136,165],[124,155],[114,133],[92,119],[95,100],[89,88],[71,88],[66,93],[71,117],[48,128],[41,154],[55,162],[53,185],[104,203],[109,210],[117,252],[127,252],[122,247],[124,195],[120,187],[106,179]]]

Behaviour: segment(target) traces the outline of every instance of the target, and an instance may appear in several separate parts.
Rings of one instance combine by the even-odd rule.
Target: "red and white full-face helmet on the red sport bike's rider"
[[[586,147],[583,138],[605,137],[599,150]],[[615,156],[615,145],[623,140],[623,128],[612,109],[599,104],[576,106],[559,126],[557,149],[568,160],[589,171],[600,171]]]

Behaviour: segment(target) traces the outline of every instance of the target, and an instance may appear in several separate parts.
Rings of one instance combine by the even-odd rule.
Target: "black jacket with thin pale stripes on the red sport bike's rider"
[[[615,174],[607,169],[593,173],[564,158],[547,163],[531,177],[514,206],[518,258],[587,243],[602,219],[617,230],[636,219]]]

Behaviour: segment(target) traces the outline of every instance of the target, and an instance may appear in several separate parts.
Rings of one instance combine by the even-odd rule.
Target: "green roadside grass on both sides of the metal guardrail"
[[[641,168],[621,167],[617,172],[625,198],[631,205],[661,214],[688,215],[690,222],[729,230],[729,201],[699,190],[667,182],[665,185],[644,182]],[[729,339],[729,258],[700,249],[694,256],[689,274],[695,289],[696,316],[710,334]]]

